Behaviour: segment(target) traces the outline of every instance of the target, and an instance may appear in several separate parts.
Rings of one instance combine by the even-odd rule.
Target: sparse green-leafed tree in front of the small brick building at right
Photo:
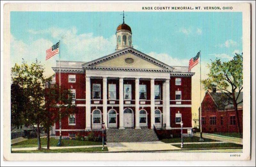
[[[208,64],[208,68],[210,69],[208,78],[202,81],[204,89],[211,90],[216,86],[217,91],[223,92],[228,97],[228,103],[234,105],[238,132],[241,133],[237,105],[243,102],[243,98],[240,102],[237,100],[243,90],[243,53],[236,54],[228,62],[216,59]]]

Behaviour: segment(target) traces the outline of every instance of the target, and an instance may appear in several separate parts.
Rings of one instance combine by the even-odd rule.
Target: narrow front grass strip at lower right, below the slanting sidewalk
[[[180,148],[180,144],[173,144]],[[184,144],[183,149],[205,149],[205,148],[243,148],[243,145],[235,143],[211,143],[211,144]]]

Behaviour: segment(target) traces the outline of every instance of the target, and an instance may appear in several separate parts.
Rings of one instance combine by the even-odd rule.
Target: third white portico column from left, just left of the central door
[[[124,129],[124,78],[119,78],[119,129]]]

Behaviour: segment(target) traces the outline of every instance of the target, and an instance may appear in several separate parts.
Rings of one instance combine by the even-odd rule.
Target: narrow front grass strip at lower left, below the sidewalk
[[[12,151],[12,153],[79,153],[79,152],[100,152],[108,151],[107,147],[91,147],[91,148],[75,148],[75,149],[42,149],[42,150],[22,150],[22,151]]]

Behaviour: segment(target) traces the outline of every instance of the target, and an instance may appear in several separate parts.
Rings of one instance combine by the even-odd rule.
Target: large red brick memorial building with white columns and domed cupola
[[[93,54],[93,53],[92,53]],[[93,56],[93,55],[92,55]],[[91,62],[57,61],[52,69],[61,87],[73,93],[76,111],[62,118],[62,136],[87,135],[106,128],[192,128],[188,67],[169,66],[132,47],[132,30],[116,29],[116,50]],[[181,113],[181,117],[180,114]],[[59,123],[55,125],[60,135]]]

